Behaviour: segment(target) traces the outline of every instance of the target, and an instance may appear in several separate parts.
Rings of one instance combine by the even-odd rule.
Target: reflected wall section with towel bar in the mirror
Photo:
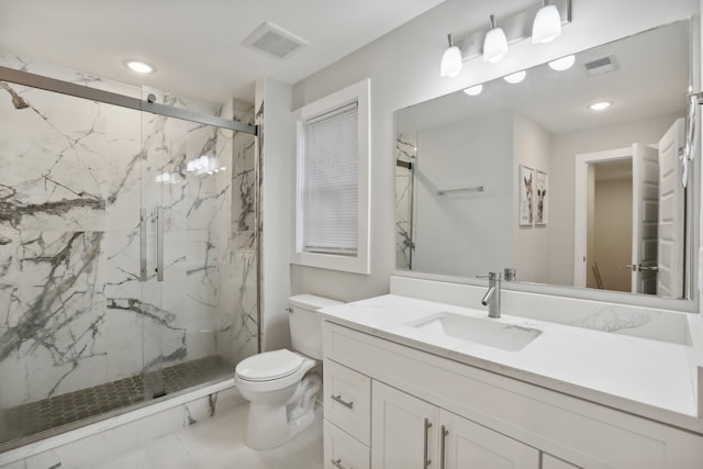
[[[417,133],[413,269],[472,277],[514,266],[512,112]],[[486,192],[437,194],[483,186]],[[470,263],[466,259],[471,259]]]

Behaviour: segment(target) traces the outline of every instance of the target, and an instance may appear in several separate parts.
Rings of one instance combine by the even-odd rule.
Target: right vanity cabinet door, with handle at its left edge
[[[443,469],[539,468],[537,449],[445,410],[440,413],[440,432],[443,429]]]

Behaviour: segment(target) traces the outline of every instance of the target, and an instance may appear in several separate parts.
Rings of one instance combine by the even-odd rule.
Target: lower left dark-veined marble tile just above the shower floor
[[[66,392],[75,380],[102,382],[103,233],[22,231],[11,236],[0,249],[5,272],[0,278],[0,405]]]

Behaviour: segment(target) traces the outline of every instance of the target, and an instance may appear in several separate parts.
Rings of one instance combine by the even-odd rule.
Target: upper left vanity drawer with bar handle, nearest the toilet
[[[325,418],[365,445],[371,442],[371,379],[324,361]]]

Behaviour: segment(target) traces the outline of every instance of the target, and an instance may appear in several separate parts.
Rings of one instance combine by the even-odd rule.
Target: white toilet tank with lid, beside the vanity
[[[343,304],[341,301],[314,294],[297,294],[288,299],[290,337],[293,349],[317,360],[322,359],[322,315],[317,310]]]

